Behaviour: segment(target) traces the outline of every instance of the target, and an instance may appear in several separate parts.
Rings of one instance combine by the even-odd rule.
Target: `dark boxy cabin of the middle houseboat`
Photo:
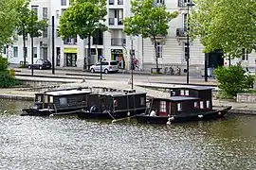
[[[123,90],[122,92],[92,93],[88,95],[87,110],[92,107],[94,112],[125,112],[131,115],[142,113],[146,110],[146,93],[137,93],[134,90]]]

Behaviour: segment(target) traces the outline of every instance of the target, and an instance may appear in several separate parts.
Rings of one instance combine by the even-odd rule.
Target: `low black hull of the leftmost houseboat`
[[[49,116],[49,115],[67,115],[67,114],[76,114],[77,110],[79,109],[72,109],[72,110],[58,110],[55,112],[55,110],[35,110],[35,109],[23,109],[23,113],[21,113],[21,116]]]

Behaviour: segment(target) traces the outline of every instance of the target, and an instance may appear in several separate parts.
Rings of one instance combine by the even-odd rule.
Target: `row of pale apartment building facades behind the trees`
[[[181,70],[186,68],[186,29],[188,9],[187,3],[190,0],[155,0],[156,5],[164,4],[168,11],[179,11],[177,18],[172,20],[168,35],[158,42],[159,67],[178,66]],[[82,69],[84,58],[87,56],[88,40],[73,37],[62,40],[58,35],[58,25],[60,16],[65,8],[70,7],[68,0],[31,0],[31,6],[37,6],[39,20],[47,19],[49,26],[39,38],[34,38],[34,60],[48,59],[51,61],[52,53],[55,54],[56,67],[72,67]],[[141,37],[129,37],[123,32],[122,19],[130,16],[129,0],[107,0],[107,16],[105,25],[108,30],[99,32],[91,39],[92,58],[88,59],[88,64],[97,62],[100,56],[107,60],[126,60],[129,62],[130,50],[133,49],[137,59],[137,69],[148,71],[155,67],[155,49],[150,39]],[[55,26],[52,27],[52,16],[54,16]],[[54,30],[54,49],[52,49],[52,29]],[[27,38],[27,61],[31,60],[31,40]],[[205,54],[203,45],[197,40],[190,42],[190,65],[194,72],[200,71],[205,66]],[[23,41],[19,36],[17,42],[4,50],[10,63],[20,63],[24,59]],[[242,64],[247,67],[254,67],[255,54],[245,54],[242,57]],[[225,65],[229,61],[221,57],[220,52],[210,53],[208,66]],[[232,63],[241,59],[232,59]]]

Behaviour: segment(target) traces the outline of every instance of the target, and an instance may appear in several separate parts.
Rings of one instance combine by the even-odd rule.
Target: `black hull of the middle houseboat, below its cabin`
[[[137,110],[137,112],[130,112],[130,115],[127,114],[127,111],[119,111],[119,112],[89,112],[85,110],[77,111],[78,117],[81,119],[121,119],[125,117],[134,116],[136,113],[141,114],[145,110]]]

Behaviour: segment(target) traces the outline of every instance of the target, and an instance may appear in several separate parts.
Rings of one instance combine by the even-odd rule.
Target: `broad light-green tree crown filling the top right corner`
[[[240,58],[256,49],[256,1],[195,0],[190,19],[192,39],[204,52],[221,49],[228,58]]]

